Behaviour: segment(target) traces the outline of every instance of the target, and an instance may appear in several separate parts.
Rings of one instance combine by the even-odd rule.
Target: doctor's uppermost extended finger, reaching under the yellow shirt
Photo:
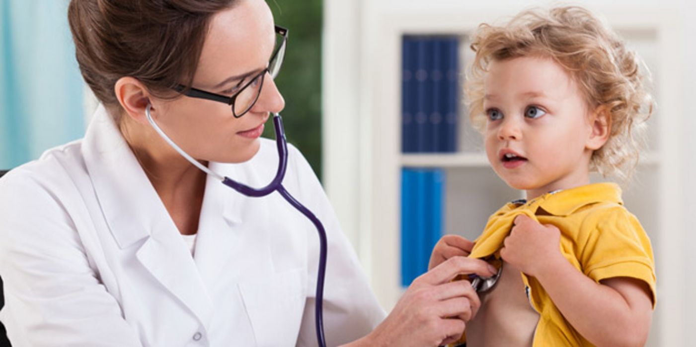
[[[468,257],[451,257],[417,278],[416,281],[422,281],[429,285],[441,285],[445,282],[450,282],[459,274],[475,273],[479,276],[490,277],[496,272],[496,268],[483,260]]]

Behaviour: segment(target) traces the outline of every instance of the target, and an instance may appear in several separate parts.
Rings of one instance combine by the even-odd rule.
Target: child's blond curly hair
[[[503,26],[481,24],[471,42],[475,58],[468,67],[464,91],[477,130],[485,128],[484,76],[492,61],[552,58],[574,78],[591,109],[608,111],[609,139],[592,153],[590,170],[622,180],[631,176],[654,105],[649,70],[590,11],[576,6],[526,10]]]

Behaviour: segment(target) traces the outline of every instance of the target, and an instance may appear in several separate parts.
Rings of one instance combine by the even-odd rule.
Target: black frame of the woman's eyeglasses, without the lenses
[[[246,115],[246,112],[249,112],[249,110],[251,110],[251,108],[253,108],[253,105],[255,105],[256,101],[258,101],[259,96],[261,95],[261,90],[263,88],[263,81],[264,81],[264,77],[266,76],[266,73],[271,74],[271,78],[276,78],[276,76],[278,75],[278,71],[280,71],[280,67],[283,65],[282,59],[285,58],[285,47],[287,46],[287,32],[288,32],[288,30],[286,28],[283,28],[282,26],[276,25],[276,34],[278,34],[282,37],[282,39],[281,39],[282,41],[278,45],[278,48],[276,49],[276,51],[274,51],[273,55],[271,55],[271,59],[269,59],[269,66],[267,68],[263,69],[263,71],[261,71],[259,74],[257,74],[253,78],[251,78],[251,80],[249,80],[243,87],[239,88],[239,90],[235,94],[232,94],[232,96],[216,94],[213,92],[206,92],[205,90],[200,90],[200,89],[194,88],[194,87],[187,88],[184,85],[177,85],[176,87],[173,88],[173,90],[175,90],[176,92],[180,92],[180,93],[184,94],[185,96],[189,96],[191,98],[206,99],[206,100],[212,100],[212,101],[218,101],[221,103],[226,103],[226,104],[231,106],[230,108],[232,109],[232,115],[235,116],[235,118],[239,118],[239,117]],[[278,57],[278,54],[280,54],[281,51],[283,52],[283,57],[280,58],[281,60],[278,62],[278,64],[279,64],[278,68],[276,69],[276,71],[271,71],[270,70],[271,62],[273,62]],[[244,110],[244,112],[237,115],[237,113],[235,112],[235,101],[237,101],[237,96],[239,96],[239,94],[242,94],[242,92],[244,92],[244,90],[246,90],[246,88],[249,85],[254,83],[257,80],[257,78],[261,78],[261,81],[260,81],[260,85],[259,85],[259,91],[258,91],[258,93],[256,93],[256,97],[254,98],[254,101],[252,101],[251,104],[248,105],[248,107],[246,108],[246,110]]]

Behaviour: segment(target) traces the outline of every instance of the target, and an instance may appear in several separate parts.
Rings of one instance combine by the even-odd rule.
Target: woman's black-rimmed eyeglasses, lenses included
[[[206,92],[205,90],[200,90],[197,88],[188,88],[184,85],[177,85],[173,88],[175,91],[180,92],[191,98],[207,99],[212,101],[218,101],[221,103],[226,103],[232,106],[232,115],[235,118],[242,117],[246,114],[253,105],[258,101],[261,95],[261,88],[263,87],[263,80],[266,73],[271,75],[271,78],[276,78],[278,72],[280,71],[280,66],[283,65],[283,58],[285,58],[285,46],[287,46],[287,29],[276,26],[276,51],[274,51],[269,60],[268,67],[263,69],[259,74],[251,78],[244,85],[237,85],[232,88],[232,96],[226,96],[221,94],[216,94],[212,92]]]

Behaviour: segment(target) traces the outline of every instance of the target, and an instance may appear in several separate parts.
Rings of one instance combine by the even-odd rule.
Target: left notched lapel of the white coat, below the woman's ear
[[[196,264],[155,188],[100,105],[82,151],[104,218],[121,249],[144,242],[137,259],[203,326],[212,316]]]

